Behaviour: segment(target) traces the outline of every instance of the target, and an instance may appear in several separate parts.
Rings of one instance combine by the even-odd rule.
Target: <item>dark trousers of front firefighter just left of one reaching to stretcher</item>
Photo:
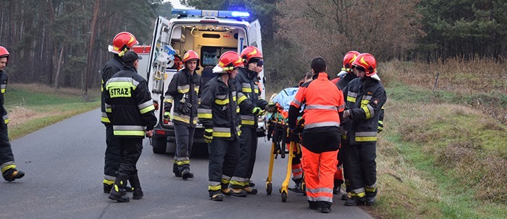
[[[220,185],[222,179],[225,182],[230,181],[239,159],[239,142],[237,138],[234,140],[213,139],[208,144],[208,152],[210,185]],[[220,188],[214,190],[220,190]],[[210,189],[210,192],[212,191]]]

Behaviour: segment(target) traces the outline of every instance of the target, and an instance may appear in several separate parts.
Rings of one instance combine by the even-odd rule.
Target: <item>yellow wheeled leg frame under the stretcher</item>
[[[274,120],[273,121],[275,124],[274,125],[278,125],[280,127],[283,127],[284,129],[288,129],[287,128],[287,125],[286,123],[279,123],[277,120]],[[287,133],[288,133],[288,130],[287,130]],[[293,134],[297,134],[299,135],[299,133],[293,133]],[[284,137],[286,138],[286,137]],[[268,178],[266,179],[266,194],[270,195],[273,191],[273,185],[272,185],[272,175],[273,175],[273,164],[274,164],[274,159],[275,159],[275,155],[277,155],[278,153],[275,151],[275,146],[276,146],[276,140],[273,138],[272,139],[272,143],[271,143],[271,151],[270,151],[270,166],[268,168]],[[289,144],[289,157],[287,157],[287,172],[285,173],[285,179],[283,180],[283,183],[282,183],[282,187],[280,188],[279,192],[281,193],[281,197],[282,197],[282,202],[286,202],[287,201],[287,197],[288,197],[288,194],[289,194],[289,182],[290,182],[290,176],[292,175],[292,159],[294,157],[296,157],[296,155],[294,154],[294,148],[296,149],[296,153],[297,154],[300,154],[301,153],[301,146],[300,144],[298,144],[297,142],[294,142],[294,141],[290,141],[290,144]],[[285,151],[283,151],[282,153],[285,153]],[[303,175],[304,177],[304,175]],[[303,187],[303,191],[305,191],[305,180],[303,179],[303,184],[302,184],[302,187]]]

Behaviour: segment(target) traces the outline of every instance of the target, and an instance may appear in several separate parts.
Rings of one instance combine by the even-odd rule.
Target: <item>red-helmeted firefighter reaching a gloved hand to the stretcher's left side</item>
[[[239,112],[241,114],[239,163],[231,179],[231,190],[235,195],[242,194],[242,191],[248,194],[257,194],[257,189],[250,185],[257,153],[257,120],[268,105],[268,101],[261,97],[260,83],[257,78],[261,70],[257,67],[259,62],[262,62],[261,51],[257,47],[246,47],[241,51],[241,58],[245,67],[239,68],[237,73],[237,90],[248,98],[253,108],[252,110],[250,110],[251,107],[244,108]]]

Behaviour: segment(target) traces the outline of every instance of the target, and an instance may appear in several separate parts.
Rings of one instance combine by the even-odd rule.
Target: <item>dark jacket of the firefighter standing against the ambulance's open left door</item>
[[[174,123],[196,127],[200,82],[200,76],[196,72],[191,75],[186,68],[172,77],[165,92],[164,110],[171,112],[174,105]]]

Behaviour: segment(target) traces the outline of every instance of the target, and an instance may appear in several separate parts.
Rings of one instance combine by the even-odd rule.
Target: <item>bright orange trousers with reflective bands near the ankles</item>
[[[303,172],[305,172],[305,184],[308,201],[325,201],[333,203],[333,181],[338,160],[337,151],[313,153],[304,146]]]

